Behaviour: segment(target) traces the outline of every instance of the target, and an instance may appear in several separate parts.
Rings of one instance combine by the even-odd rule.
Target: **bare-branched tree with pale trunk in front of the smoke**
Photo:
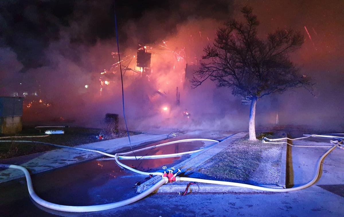
[[[241,12],[245,23],[227,22],[217,30],[213,45],[204,48],[201,67],[194,72],[191,84],[196,88],[209,78],[217,87],[232,88],[234,95],[250,100],[249,139],[256,140],[257,100],[289,88],[307,88],[311,83],[289,59],[289,54],[303,44],[303,35],[278,29],[262,40],[252,8],[243,7]]]

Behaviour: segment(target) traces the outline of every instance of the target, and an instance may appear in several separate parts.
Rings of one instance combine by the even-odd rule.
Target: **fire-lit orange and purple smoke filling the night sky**
[[[0,93],[27,92],[25,103],[41,99],[51,104],[24,106],[24,124],[64,120],[99,127],[106,113],[121,115],[120,71],[115,64],[118,56],[111,55],[117,52],[112,1],[1,4],[0,27],[4,31],[0,33]],[[242,20],[239,11],[244,3],[187,0],[116,4],[131,129],[247,129],[249,106],[241,105],[240,97],[233,96],[228,88],[217,89],[212,81],[196,89],[189,83],[191,72],[204,54],[203,47],[213,42],[216,29],[225,21]],[[305,37],[303,47],[291,58],[301,66],[301,73],[316,83],[316,97],[304,89],[266,96],[257,104],[256,123],[275,125],[277,121],[343,129],[339,103],[344,99],[344,21],[336,19],[341,11],[334,7],[343,3],[245,4],[254,8],[260,20],[261,37],[278,27],[304,31],[307,26],[313,40]],[[152,53],[148,76],[130,70],[139,70],[134,57],[139,44]],[[104,69],[106,73],[101,75]],[[177,87],[180,105],[176,102]]]

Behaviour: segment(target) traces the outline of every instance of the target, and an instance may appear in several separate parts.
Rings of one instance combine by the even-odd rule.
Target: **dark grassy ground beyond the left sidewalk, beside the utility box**
[[[44,128],[41,132],[44,132]],[[36,130],[32,127],[23,128],[22,132],[19,134],[5,135],[0,134],[0,140],[13,140],[11,142],[1,142],[0,144],[0,159],[19,157],[23,155],[29,155],[33,153],[50,151],[56,149],[57,147],[44,145],[44,144],[33,144],[25,142],[16,142],[16,140],[30,140],[30,141],[40,141],[48,142],[57,145],[65,146],[76,146],[82,144],[88,144],[92,142],[100,141],[96,138],[101,129],[95,128],[80,128],[80,127],[67,127],[64,128],[64,134],[52,134],[47,137],[32,137],[32,138],[1,138],[7,136],[36,136],[36,135],[45,135],[44,133],[39,133],[39,130]],[[130,135],[140,134],[139,132],[129,132]],[[105,135],[103,140],[115,139],[120,137],[127,136],[125,130],[119,130],[116,134]]]

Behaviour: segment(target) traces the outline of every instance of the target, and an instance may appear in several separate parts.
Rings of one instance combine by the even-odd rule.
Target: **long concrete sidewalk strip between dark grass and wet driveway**
[[[144,133],[130,136],[131,145],[138,146],[145,142],[158,141],[166,138],[166,134],[150,134]],[[34,144],[33,144],[34,145]],[[130,147],[128,137],[117,139],[110,139],[105,141],[94,142],[85,145],[75,146],[79,148],[95,149],[107,153],[113,153],[121,148]],[[21,165],[30,170],[33,174],[52,170],[59,167],[64,167],[70,164],[79,163],[82,161],[101,157],[102,155],[95,152],[61,148],[52,151],[35,153],[21,157],[9,158],[0,160],[3,164]],[[1,168],[0,168],[1,169]],[[2,170],[0,171],[0,183],[7,182],[13,179],[24,177],[22,171],[19,170]]]

